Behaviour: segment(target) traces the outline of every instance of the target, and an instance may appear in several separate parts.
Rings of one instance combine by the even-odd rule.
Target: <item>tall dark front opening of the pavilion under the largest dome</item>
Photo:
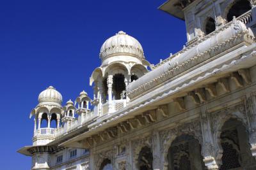
[[[113,76],[113,100],[123,99],[125,95],[125,82],[123,74]]]

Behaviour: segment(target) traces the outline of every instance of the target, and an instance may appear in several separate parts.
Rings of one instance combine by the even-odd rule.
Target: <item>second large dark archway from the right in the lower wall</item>
[[[168,150],[168,170],[205,169],[201,146],[193,136],[177,137]]]

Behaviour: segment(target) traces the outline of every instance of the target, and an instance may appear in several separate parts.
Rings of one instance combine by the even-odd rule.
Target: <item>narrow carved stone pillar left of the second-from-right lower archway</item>
[[[160,170],[161,169],[161,146],[160,146],[160,137],[159,132],[154,129],[152,132],[152,151],[153,151],[153,169]]]

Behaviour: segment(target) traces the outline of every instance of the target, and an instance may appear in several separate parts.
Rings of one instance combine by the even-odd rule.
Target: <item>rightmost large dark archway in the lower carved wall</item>
[[[255,169],[248,143],[248,133],[238,120],[231,118],[221,128],[220,143],[223,149],[220,169]]]

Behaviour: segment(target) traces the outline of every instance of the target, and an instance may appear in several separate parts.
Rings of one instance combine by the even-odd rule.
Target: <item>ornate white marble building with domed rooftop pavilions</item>
[[[154,66],[119,31],[100,49],[93,99],[41,92],[33,145],[18,152],[31,169],[256,169],[255,5],[166,1],[186,22],[182,50]]]

